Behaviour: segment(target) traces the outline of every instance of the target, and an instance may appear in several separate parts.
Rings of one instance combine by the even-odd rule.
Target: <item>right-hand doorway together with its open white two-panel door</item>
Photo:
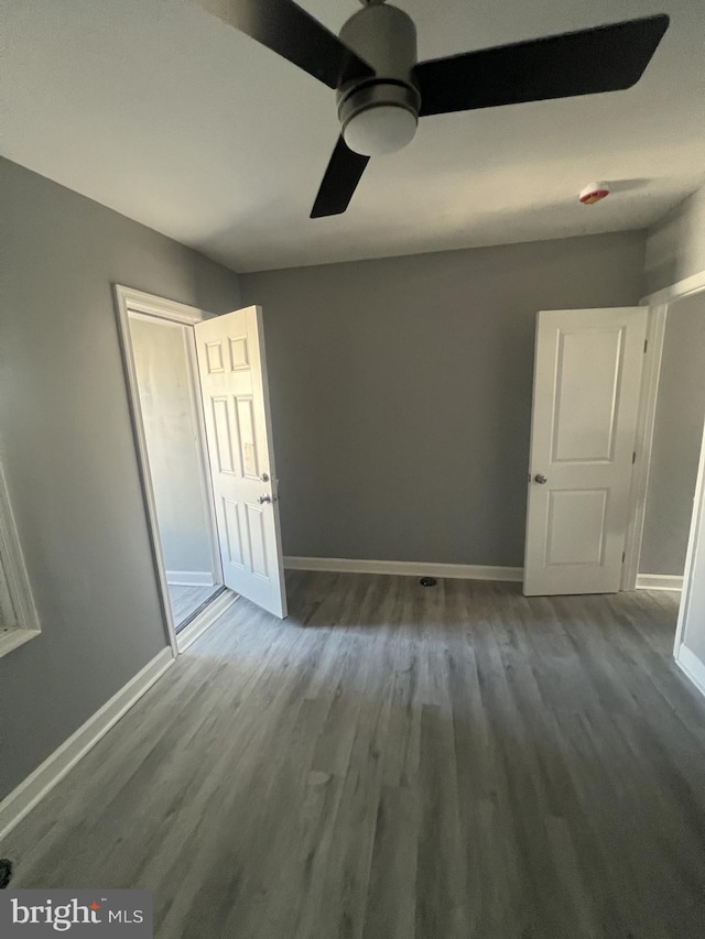
[[[703,694],[704,424],[705,272],[639,307],[539,315],[524,593],[672,591]]]

